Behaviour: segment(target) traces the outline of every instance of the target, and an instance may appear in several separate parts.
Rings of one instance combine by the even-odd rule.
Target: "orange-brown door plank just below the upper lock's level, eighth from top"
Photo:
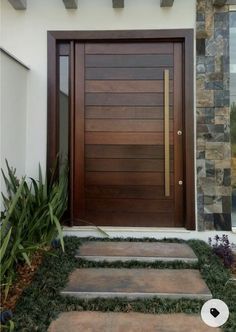
[[[127,132],[90,132],[85,133],[85,144],[164,144],[163,133],[127,133]],[[173,134],[170,133],[170,144],[173,144]]]

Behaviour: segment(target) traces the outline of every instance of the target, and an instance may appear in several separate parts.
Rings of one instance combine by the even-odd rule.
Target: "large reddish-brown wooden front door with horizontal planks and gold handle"
[[[74,224],[184,225],[182,61],[177,42],[76,44]]]

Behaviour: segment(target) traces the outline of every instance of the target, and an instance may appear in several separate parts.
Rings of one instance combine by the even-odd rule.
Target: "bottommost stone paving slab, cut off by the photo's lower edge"
[[[208,327],[200,315],[66,312],[53,321],[48,332],[219,332]]]

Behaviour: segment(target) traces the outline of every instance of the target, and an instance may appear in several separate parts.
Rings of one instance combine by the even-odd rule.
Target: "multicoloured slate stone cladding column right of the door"
[[[197,0],[196,104],[199,230],[231,230],[229,7]]]

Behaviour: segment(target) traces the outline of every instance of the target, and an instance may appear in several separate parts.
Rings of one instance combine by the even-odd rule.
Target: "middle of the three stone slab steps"
[[[81,268],[71,273],[61,294],[79,298],[212,298],[199,271],[190,269]]]

